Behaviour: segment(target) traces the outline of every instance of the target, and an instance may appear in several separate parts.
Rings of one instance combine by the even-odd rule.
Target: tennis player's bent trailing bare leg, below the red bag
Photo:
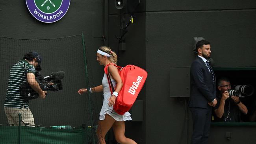
[[[113,124],[113,131],[115,135],[115,140],[120,144],[137,144],[134,140],[125,137],[125,124],[124,121],[118,122],[115,121]]]

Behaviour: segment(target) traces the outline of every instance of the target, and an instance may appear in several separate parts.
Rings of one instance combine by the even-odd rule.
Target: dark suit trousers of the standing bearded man
[[[211,127],[211,107],[190,107],[193,119],[191,144],[207,144]]]

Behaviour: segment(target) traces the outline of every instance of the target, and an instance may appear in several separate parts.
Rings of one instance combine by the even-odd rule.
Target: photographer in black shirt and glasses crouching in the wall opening
[[[229,96],[231,84],[228,78],[220,78],[217,85],[218,103],[214,107],[214,112],[220,118],[219,122],[240,122],[241,112],[247,114],[247,107],[239,100],[239,96]]]

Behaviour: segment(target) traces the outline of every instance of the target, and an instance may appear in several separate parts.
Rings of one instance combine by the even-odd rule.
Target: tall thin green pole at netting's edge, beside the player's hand
[[[82,32],[82,44],[83,44],[83,59],[84,59],[84,64],[85,64],[85,77],[86,77],[86,81],[85,81],[85,85],[89,87],[89,77],[88,77],[88,68],[87,68],[87,59],[86,59],[86,51],[85,51],[85,42],[84,42],[84,37],[83,37],[83,32]],[[91,110],[91,124],[93,125],[92,128],[95,131],[95,125],[94,125],[94,120],[93,120],[93,109],[91,106],[91,95],[90,92],[87,92],[88,95],[88,100],[89,100],[89,108]],[[95,137],[93,135],[93,144],[95,144]]]

